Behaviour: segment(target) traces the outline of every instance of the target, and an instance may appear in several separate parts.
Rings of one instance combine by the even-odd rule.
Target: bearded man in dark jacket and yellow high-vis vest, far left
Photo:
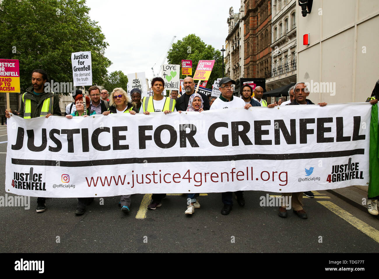
[[[49,77],[44,70],[36,69],[31,73],[32,86],[22,95],[20,117],[30,119],[41,116],[48,118],[50,115],[62,116],[58,95],[52,92],[50,86],[45,86],[46,82],[49,82]],[[5,117],[11,117],[8,110],[5,111]],[[45,211],[45,200],[44,197],[38,197],[37,212]]]

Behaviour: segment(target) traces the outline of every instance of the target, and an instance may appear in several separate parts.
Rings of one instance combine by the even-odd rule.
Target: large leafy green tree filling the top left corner
[[[2,2],[0,58],[19,60],[21,92],[31,85],[33,69],[44,69],[55,82],[72,82],[71,53],[80,51],[91,51],[92,83],[103,84],[109,44],[89,10],[85,0]]]

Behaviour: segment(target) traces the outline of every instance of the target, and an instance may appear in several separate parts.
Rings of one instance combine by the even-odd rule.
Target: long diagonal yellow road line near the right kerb
[[[356,227],[361,232],[365,233],[366,235],[370,236],[373,240],[375,240],[377,243],[379,243],[379,231],[371,227],[370,225],[366,224],[365,222],[359,220],[358,218],[352,216],[347,211],[343,210],[339,206],[335,205],[332,202],[326,201],[326,200],[320,200],[318,203],[321,203],[323,206],[325,206],[327,209],[332,211],[337,216],[344,219],[349,224]]]

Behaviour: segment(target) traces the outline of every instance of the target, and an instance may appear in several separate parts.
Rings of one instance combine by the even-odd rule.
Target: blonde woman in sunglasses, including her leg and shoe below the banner
[[[103,112],[103,115],[108,115],[109,113],[130,113],[136,114],[137,109],[132,106],[132,102],[121,87],[114,88],[111,95],[109,96],[109,109]],[[130,211],[130,203],[132,195],[121,195],[119,206],[121,206],[121,211],[128,213]]]

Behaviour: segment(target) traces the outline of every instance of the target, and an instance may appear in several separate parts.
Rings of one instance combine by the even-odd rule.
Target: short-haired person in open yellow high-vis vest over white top
[[[163,112],[164,114],[176,111],[175,99],[167,98],[162,95],[164,90],[164,80],[161,77],[154,77],[151,81],[151,89],[154,92],[152,97],[144,97],[139,113],[149,115],[150,112]],[[152,202],[147,206],[148,209],[155,210],[160,207],[161,200],[166,197],[166,194],[153,194]]]

